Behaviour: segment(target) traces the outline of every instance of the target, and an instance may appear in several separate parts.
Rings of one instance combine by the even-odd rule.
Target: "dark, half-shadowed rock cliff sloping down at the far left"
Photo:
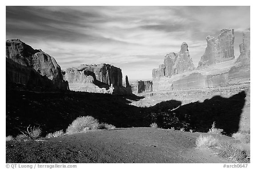
[[[15,63],[12,63],[15,62]],[[21,83],[25,86],[40,86],[45,76],[52,81],[52,88],[68,90],[63,80],[61,68],[56,60],[41,50],[35,50],[19,39],[6,40],[6,79],[8,83]],[[35,71],[34,71],[35,70]],[[46,84],[49,84],[48,79]],[[49,85],[47,85],[49,86]]]

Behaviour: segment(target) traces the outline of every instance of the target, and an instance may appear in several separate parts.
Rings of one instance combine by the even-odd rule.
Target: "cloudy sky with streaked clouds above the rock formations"
[[[197,67],[223,28],[235,30],[235,57],[250,28],[248,6],[66,6],[6,7],[6,39],[20,39],[53,56],[62,70],[109,63],[129,79],[152,79],[164,55],[183,42]]]

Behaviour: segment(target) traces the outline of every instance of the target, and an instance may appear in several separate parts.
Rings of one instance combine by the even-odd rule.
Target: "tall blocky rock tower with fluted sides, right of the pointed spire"
[[[221,30],[217,39],[207,36],[207,47],[198,63],[198,68],[234,59],[234,40],[234,29]]]

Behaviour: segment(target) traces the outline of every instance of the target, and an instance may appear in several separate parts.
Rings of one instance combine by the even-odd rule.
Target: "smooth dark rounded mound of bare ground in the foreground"
[[[204,133],[205,134],[205,133]],[[41,141],[6,142],[7,163],[228,163],[214,149],[195,148],[200,133],[120,128]],[[227,136],[214,136],[233,140]]]

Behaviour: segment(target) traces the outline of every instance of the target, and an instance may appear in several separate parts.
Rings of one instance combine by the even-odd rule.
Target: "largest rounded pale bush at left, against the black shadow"
[[[100,123],[97,119],[93,118],[92,116],[83,116],[76,118],[68,126],[66,131],[67,134],[74,134],[79,132],[86,132],[87,130],[98,129],[100,127]]]

